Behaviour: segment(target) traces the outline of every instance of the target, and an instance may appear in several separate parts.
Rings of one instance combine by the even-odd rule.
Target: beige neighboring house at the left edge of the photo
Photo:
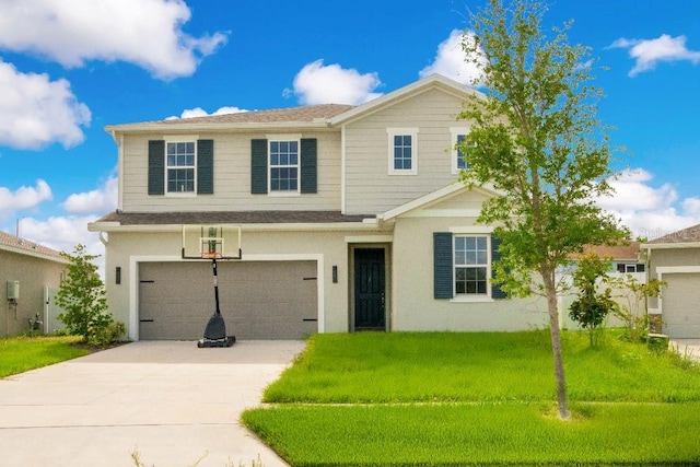
[[[54,249],[0,232],[0,336],[30,330],[39,314],[49,325],[49,290],[60,285],[68,261]]]

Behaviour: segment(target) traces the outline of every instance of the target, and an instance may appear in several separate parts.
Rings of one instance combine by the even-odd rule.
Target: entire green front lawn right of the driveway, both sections
[[[700,369],[610,332],[317,335],[243,421],[292,466],[696,465]]]

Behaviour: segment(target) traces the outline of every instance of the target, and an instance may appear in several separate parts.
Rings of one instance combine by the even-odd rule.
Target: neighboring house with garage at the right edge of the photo
[[[666,285],[650,310],[661,314],[663,331],[672,339],[700,339],[700,225],[653,240],[642,249],[649,277]]]

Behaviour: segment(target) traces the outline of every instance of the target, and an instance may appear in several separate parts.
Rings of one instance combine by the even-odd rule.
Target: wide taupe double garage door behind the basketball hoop
[[[300,339],[317,329],[315,261],[218,261],[219,302],[236,339]],[[139,265],[139,338],[195,340],[215,311],[209,261]]]

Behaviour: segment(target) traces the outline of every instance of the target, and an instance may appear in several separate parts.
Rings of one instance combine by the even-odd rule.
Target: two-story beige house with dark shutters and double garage
[[[226,329],[518,330],[544,300],[490,282],[493,191],[456,183],[457,120],[479,93],[431,75],[359,106],[312,105],[106,127],[118,209],[105,244],[110,312],[131,339],[197,339],[214,311],[211,265],[182,258],[184,224],[237,224],[243,259],[218,262]]]

